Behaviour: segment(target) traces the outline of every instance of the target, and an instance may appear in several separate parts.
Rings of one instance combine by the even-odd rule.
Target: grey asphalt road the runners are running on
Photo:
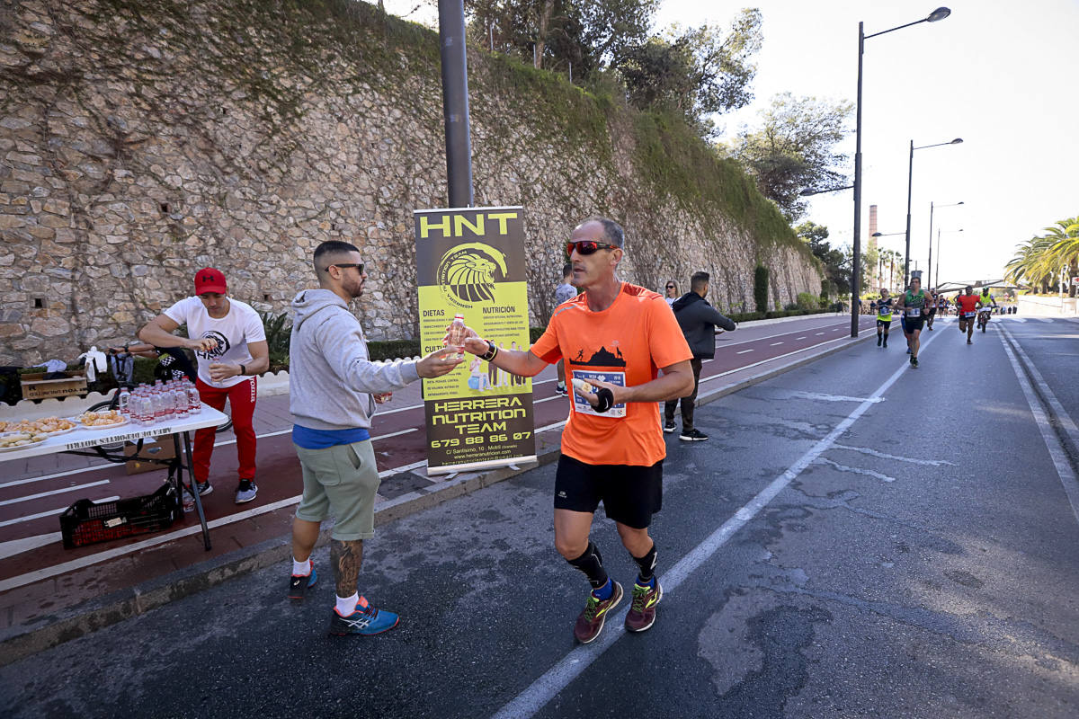
[[[954,320],[952,320],[954,322]],[[575,647],[587,584],[551,542],[554,466],[379,529],[361,591],[399,611],[326,636],[332,582],[256,572],[0,669],[12,717],[1074,717],[1079,523],[994,323],[967,346],[860,343],[668,435],[656,625]],[[1009,323],[1075,409],[1079,324]],[[1076,413],[1079,414],[1079,413]],[[634,566],[613,524],[611,573]]]

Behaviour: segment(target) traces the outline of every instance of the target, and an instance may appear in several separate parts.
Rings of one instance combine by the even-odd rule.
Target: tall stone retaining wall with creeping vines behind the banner
[[[2,13],[0,364],[131,340],[205,265],[282,312],[326,239],[364,251],[355,309],[370,338],[415,336],[411,212],[446,205],[437,44],[422,31],[414,47],[370,27],[349,42],[340,18],[298,28],[292,3],[256,0],[8,0]],[[543,78],[507,86],[486,58],[469,57],[476,204],[525,207],[533,324],[562,240],[593,213],[626,225],[624,279],[684,290],[706,269],[714,302],[752,309],[764,262],[776,306],[819,292],[807,251],[652,192],[630,111],[604,115],[573,87],[552,101]],[[582,130],[573,112],[599,121]]]

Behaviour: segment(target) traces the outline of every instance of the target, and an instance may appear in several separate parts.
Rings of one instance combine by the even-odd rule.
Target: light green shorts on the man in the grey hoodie
[[[325,450],[297,446],[303,468],[303,498],[296,516],[308,522],[336,520],[330,537],[341,541],[374,536],[374,494],[379,470],[370,440]]]

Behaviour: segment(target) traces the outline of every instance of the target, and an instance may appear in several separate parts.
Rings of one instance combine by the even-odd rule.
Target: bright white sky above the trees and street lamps
[[[405,15],[420,1],[386,0],[386,9]],[[756,126],[778,93],[853,101],[858,23],[872,34],[921,19],[938,5],[932,0],[663,0],[655,29],[674,23],[726,28],[745,6],[763,14],[755,99],[716,117],[724,128],[721,139]],[[914,152],[911,266],[926,267],[933,203],[933,285],[938,278],[1000,279],[1020,243],[1079,216],[1079,0],[955,0],[946,6],[952,15],[943,20],[866,40],[862,69],[863,251],[870,205],[877,206],[878,232],[905,230],[911,140],[915,148],[964,140]],[[437,26],[436,17],[432,11],[409,15]],[[851,179],[853,126],[851,115],[851,133],[838,148],[850,156]],[[809,199],[805,219],[828,226],[833,245],[849,246],[852,192]],[[902,234],[879,238],[882,247],[899,251],[904,241]]]

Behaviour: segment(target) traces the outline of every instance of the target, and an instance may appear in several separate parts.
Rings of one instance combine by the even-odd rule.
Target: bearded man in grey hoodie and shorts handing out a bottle
[[[374,363],[349,303],[364,293],[364,262],[349,243],[330,240],[315,249],[317,290],[292,300],[296,317],[289,348],[289,412],[292,444],[303,470],[303,498],[292,522],[292,575],[288,596],[302,599],[316,581],[311,553],[319,525],[336,520],[330,562],[337,606],[330,634],[380,634],[397,626],[397,614],[380,611],[359,596],[357,575],[364,540],[374,535],[379,471],[371,448],[371,415],[394,389],[420,377],[450,372],[461,359],[454,348],[420,360]]]

